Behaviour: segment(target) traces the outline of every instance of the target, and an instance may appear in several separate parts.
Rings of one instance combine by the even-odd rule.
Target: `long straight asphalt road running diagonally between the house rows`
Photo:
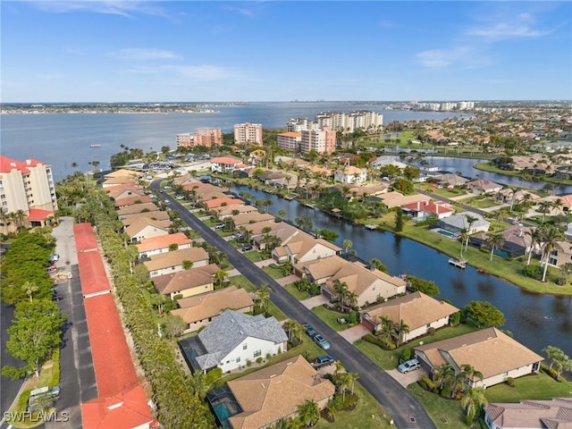
[[[151,184],[151,189],[158,190],[160,181]],[[359,383],[366,391],[374,396],[385,411],[393,418],[395,425],[400,429],[422,428],[431,429],[436,426],[425,412],[425,408],[405,389],[379,366],[363,355],[358,349],[344,340],[337,332],[333,331],[314,313],[304,307],[298,299],[295,299],[286,290],[273,280],[268,274],[252,264],[238,250],[228,244],[222,237],[207,228],[198,218],[189,213],[174,198],[163,193],[158,194],[161,198],[171,202],[171,209],[181,214],[181,219],[195,230],[202,231],[202,237],[211,245],[223,251],[229,262],[237,268],[248,280],[260,287],[267,284],[270,287],[270,298],[276,307],[288,317],[299,322],[308,322],[321,332],[330,342],[332,355],[338,358],[349,372],[359,374]]]

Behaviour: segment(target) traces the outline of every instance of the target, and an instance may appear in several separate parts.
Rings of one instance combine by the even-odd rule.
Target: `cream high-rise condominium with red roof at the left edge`
[[[36,159],[21,162],[0,155],[0,205],[4,213],[0,230],[4,232],[46,224],[46,218],[57,210],[52,166]]]

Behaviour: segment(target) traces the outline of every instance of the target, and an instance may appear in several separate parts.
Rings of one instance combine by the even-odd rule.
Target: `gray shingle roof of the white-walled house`
[[[212,324],[198,333],[198,339],[206,349],[206,354],[196,358],[201,369],[217,366],[223,357],[248,337],[265,341],[288,341],[286,332],[272,316],[245,315],[238,311],[224,310]]]

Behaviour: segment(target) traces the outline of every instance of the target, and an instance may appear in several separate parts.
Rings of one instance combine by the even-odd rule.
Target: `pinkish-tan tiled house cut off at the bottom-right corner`
[[[569,429],[572,399],[490,403],[484,407],[484,423],[489,429]]]

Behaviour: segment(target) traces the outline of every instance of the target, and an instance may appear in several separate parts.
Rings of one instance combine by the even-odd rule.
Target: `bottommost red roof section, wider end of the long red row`
[[[125,393],[89,400],[81,404],[83,429],[131,429],[155,423],[145,391],[137,386]]]

